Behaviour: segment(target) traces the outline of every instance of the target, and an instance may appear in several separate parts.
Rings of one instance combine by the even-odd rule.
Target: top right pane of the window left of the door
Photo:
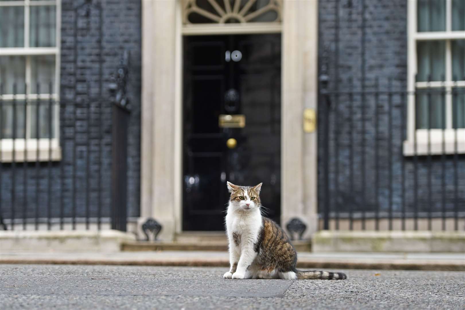
[[[31,47],[56,46],[56,7],[31,6],[29,45]]]

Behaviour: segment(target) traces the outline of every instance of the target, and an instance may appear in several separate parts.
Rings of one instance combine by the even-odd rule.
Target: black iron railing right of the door
[[[324,69],[321,229],[464,230],[460,82],[427,82],[409,92],[384,78],[363,88],[350,80],[335,89]]]

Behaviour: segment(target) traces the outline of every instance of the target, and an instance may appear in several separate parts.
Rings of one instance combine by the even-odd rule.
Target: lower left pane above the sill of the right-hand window
[[[433,88],[430,94],[417,89],[415,104],[417,129],[444,128],[445,95],[441,89]]]

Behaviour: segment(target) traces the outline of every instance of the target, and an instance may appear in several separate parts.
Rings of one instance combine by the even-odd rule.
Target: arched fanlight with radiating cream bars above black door
[[[280,26],[282,20],[282,0],[186,0],[182,5],[187,27],[212,23]]]

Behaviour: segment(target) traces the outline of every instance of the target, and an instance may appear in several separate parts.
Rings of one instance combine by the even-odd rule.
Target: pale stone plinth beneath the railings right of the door
[[[320,230],[312,236],[318,252],[465,253],[463,231]]]

